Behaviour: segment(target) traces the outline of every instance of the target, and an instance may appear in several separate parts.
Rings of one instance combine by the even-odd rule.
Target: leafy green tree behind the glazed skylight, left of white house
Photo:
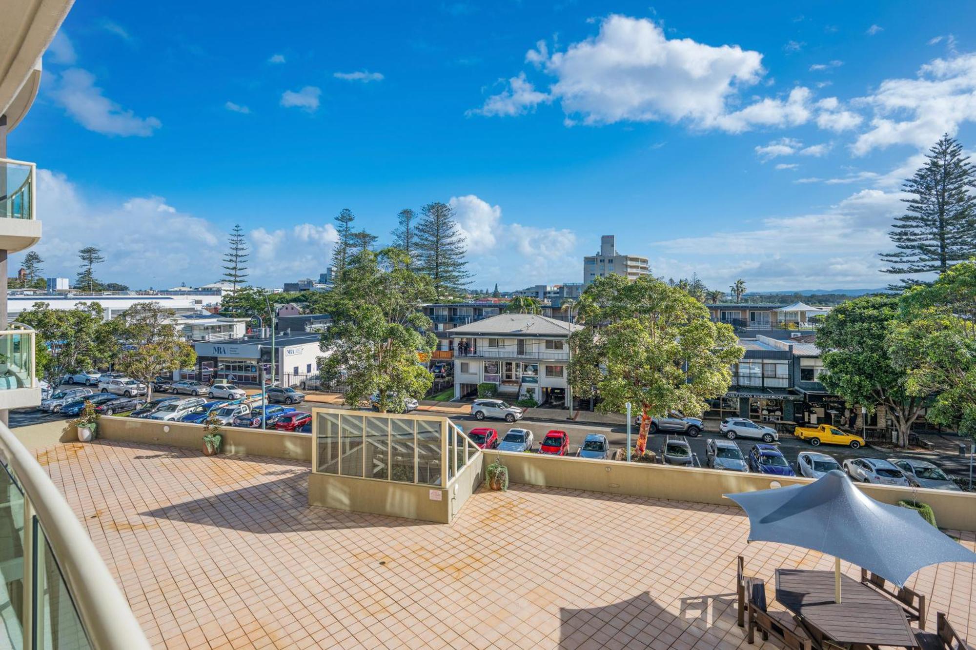
[[[381,412],[403,412],[407,397],[422,397],[433,383],[418,362],[419,353],[429,354],[437,344],[420,310],[433,299],[433,284],[406,263],[406,254],[395,248],[365,251],[346,269],[346,291],[324,294],[333,324],[322,335],[322,382],[343,376],[349,406],[378,393]]]

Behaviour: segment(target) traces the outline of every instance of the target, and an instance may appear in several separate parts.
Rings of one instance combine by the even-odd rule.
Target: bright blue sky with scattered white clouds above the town
[[[325,269],[450,201],[475,286],[582,280],[601,234],[727,289],[877,287],[899,183],[976,130],[970,3],[77,3],[10,154],[48,275],[134,287]],[[16,264],[20,256],[15,258]]]

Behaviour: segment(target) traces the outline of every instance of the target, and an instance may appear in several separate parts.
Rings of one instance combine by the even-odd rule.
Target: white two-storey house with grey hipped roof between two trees
[[[455,397],[491,383],[499,386],[503,398],[568,405],[568,339],[579,329],[526,313],[504,313],[454,328],[448,336],[454,348]]]

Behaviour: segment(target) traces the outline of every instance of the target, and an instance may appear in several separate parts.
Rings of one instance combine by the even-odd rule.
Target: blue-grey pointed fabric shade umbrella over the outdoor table
[[[898,587],[929,564],[976,562],[915,510],[874,501],[838,469],[806,485],[725,496],[749,515],[750,542],[819,550]]]

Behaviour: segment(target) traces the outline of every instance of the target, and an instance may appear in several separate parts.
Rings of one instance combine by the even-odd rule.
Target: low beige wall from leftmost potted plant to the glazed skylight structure
[[[308,433],[225,427],[221,434],[224,436],[224,454],[311,462],[311,435]],[[203,425],[181,422],[106,416],[99,420],[99,437],[203,451]]]

